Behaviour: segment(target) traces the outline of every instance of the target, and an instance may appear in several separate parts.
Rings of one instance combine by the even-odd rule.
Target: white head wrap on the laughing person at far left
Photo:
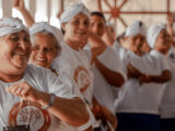
[[[23,25],[21,20],[13,17],[3,17],[0,20],[0,37],[21,31],[28,33],[28,29]]]

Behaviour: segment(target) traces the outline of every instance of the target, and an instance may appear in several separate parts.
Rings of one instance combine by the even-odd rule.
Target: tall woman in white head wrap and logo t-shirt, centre
[[[62,57],[60,63],[70,63],[71,67],[66,67],[65,72],[69,70],[69,74],[74,79],[78,87],[84,98],[92,107],[96,118],[107,120],[116,127],[116,120],[110,116],[108,109],[97,103],[93,96],[93,71],[91,66],[91,51],[84,51],[83,48],[88,44],[88,37],[93,37],[90,29],[90,13],[82,3],[77,3],[69,7],[61,15],[61,27],[65,31],[66,45],[62,46]],[[102,47],[103,48],[103,47]],[[100,47],[93,50],[94,55],[98,55]],[[74,58],[70,58],[67,52],[70,52]],[[67,61],[65,61],[67,59]],[[61,66],[63,68],[63,64]]]

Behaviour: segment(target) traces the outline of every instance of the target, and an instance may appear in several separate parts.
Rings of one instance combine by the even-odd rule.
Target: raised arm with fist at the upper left
[[[34,19],[25,8],[24,0],[14,0],[13,8],[22,13],[27,27],[31,27],[35,23]]]

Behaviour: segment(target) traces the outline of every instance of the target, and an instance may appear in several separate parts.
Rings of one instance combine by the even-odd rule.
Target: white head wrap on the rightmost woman
[[[166,29],[165,25],[162,23],[155,24],[149,28],[148,35],[147,35],[147,40],[148,40],[149,46],[152,49],[154,48],[155,40],[162,29]]]

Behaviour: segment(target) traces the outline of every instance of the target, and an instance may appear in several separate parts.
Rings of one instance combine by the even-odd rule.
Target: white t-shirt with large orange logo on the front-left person
[[[60,78],[47,69],[28,64],[22,80],[33,87],[45,93],[54,93],[56,96],[72,98],[72,87],[68,86]],[[8,93],[5,88],[13,83],[0,81],[0,130],[4,126],[27,124],[31,131],[47,130],[57,131],[62,127],[60,120],[40,108],[40,105],[33,102],[24,102]],[[63,130],[62,130],[63,131]]]

